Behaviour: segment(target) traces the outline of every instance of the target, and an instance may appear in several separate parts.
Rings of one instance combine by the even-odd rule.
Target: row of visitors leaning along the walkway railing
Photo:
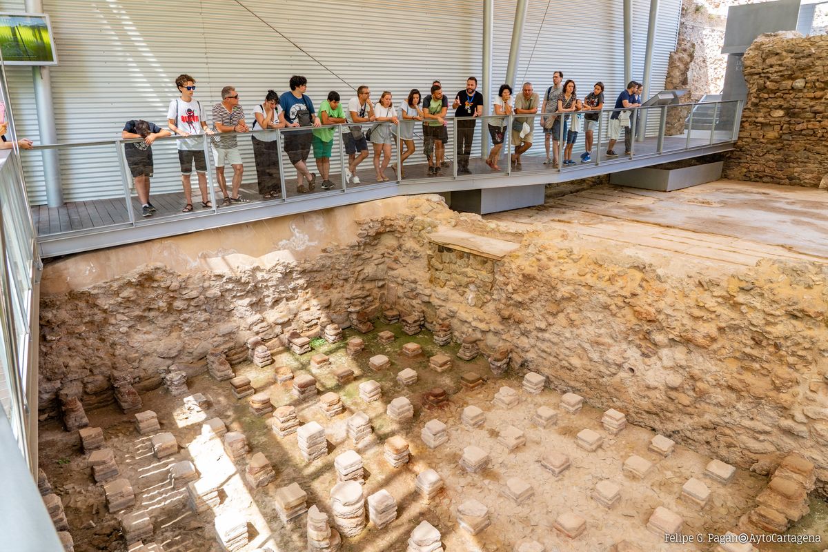
[[[593,90],[580,99],[576,96],[573,80],[561,84],[562,82],[563,73],[556,71],[552,77],[553,84],[546,89],[542,103],[533,91],[532,83],[524,83],[521,93],[516,95],[513,95],[512,87],[508,84],[500,86],[498,97],[493,102],[494,117],[488,120],[493,146],[486,164],[492,170],[501,170],[498,160],[505,132],[512,132],[514,151],[511,162],[516,170],[522,168],[521,156],[532,146],[533,116],[538,110],[542,113],[540,121],[546,146],[545,164],[575,165],[571,159],[572,148],[581,127],[585,131],[585,152],[581,154],[581,162],[591,160],[593,133],[598,125],[599,111],[604,107],[604,84],[595,83]],[[349,99],[346,109],[343,109],[339,94],[331,91],[321,103],[318,116],[313,101],[306,94],[307,79],[294,75],[289,84],[290,90],[281,96],[273,90],[267,91],[262,103],[253,108],[254,120],[250,125],[239,105],[238,91],[232,86],[225,86],[221,91],[221,102],[216,103],[211,110],[213,124],[209,125],[201,103],[194,98],[195,79],[189,74],[179,75],[176,87],[180,95],[170,102],[166,128],[144,120],[131,120],[123,127],[123,139],[135,140],[124,146],[138,199],[142,204],[142,215],[147,217],[155,212],[149,199],[153,171],[152,142],[156,138],[172,134],[183,138],[178,140],[178,157],[186,201],[182,211],[185,213],[193,210],[190,175],[194,165],[201,192],[201,205],[207,209],[213,207],[207,190],[205,149],[202,139],[198,137],[201,134],[209,136],[216,181],[223,194],[224,205],[249,201],[239,195],[244,167],[238,151],[238,133],[243,132],[286,129],[286,132],[282,132],[284,151],[296,169],[296,191],[300,194],[315,190],[317,183],[315,173],[307,166],[311,148],[316,168],[320,172],[321,189],[330,190],[335,187],[330,180],[330,156],[338,129],[342,131],[343,146],[348,154],[345,178],[351,184],[360,183],[357,170],[369,155],[368,142],[373,146],[373,168],[378,182],[390,180],[385,172],[391,165],[394,143],[400,149],[400,166],[393,164],[391,167],[398,171],[401,178],[404,177],[403,164],[415,151],[414,132],[417,122],[421,123],[428,174],[440,175],[442,169],[448,166],[445,161],[445,143],[448,142],[446,116],[449,100],[443,93],[439,80],[431,83],[431,89],[425,98],[418,89],[412,89],[399,104],[398,111],[393,105],[392,94],[388,91],[383,91],[378,102],[373,103],[368,86],[359,86],[356,97]],[[455,94],[451,103],[451,108],[455,110],[456,163],[460,175],[471,173],[469,158],[476,127],[474,119],[484,115],[484,98],[477,91],[477,84],[474,76],[469,77],[465,89]],[[613,147],[620,137],[622,127],[625,129],[627,154],[630,152],[632,133],[628,108],[641,105],[640,87],[640,84],[631,81],[615,103],[616,111],[611,114],[609,121],[609,147],[606,152],[609,157],[618,156]],[[512,127],[507,129],[509,115],[515,117]],[[277,133],[257,132],[251,140],[259,193],[264,199],[275,198],[281,194],[282,186]],[[233,169],[229,186],[224,174],[226,165]]]

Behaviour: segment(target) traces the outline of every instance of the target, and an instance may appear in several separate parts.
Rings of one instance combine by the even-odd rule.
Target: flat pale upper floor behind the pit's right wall
[[[716,180],[670,193],[603,185],[484,218],[661,254],[676,273],[688,261],[731,271],[773,257],[828,262],[826,204],[826,190]]]

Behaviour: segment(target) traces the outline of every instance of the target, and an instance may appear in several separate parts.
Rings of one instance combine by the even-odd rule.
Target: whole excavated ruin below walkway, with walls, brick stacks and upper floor
[[[78,552],[823,550],[826,232],[766,224],[811,193],[412,196],[51,262],[41,493]]]

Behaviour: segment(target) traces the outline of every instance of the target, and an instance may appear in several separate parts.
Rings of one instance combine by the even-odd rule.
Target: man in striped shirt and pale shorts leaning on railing
[[[219,182],[221,193],[224,194],[224,205],[234,203],[248,203],[249,199],[238,196],[238,188],[242,185],[244,166],[242,156],[238,152],[236,132],[249,132],[244,122],[244,110],[238,105],[238,92],[232,86],[221,89],[221,102],[213,106],[213,130],[218,132],[213,137],[213,159],[215,161],[215,180]],[[227,180],[224,178],[224,165],[233,166],[233,194],[227,193]]]

